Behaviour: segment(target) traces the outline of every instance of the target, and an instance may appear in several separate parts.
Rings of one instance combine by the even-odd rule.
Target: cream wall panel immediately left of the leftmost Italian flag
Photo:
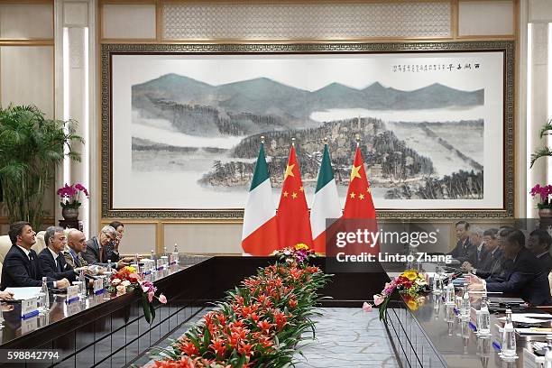
[[[242,224],[166,224],[164,245],[170,252],[179,244],[180,253],[241,254]]]

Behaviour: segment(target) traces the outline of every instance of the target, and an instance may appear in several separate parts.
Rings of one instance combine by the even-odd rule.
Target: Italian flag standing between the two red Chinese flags
[[[341,203],[337,195],[329,151],[325,144],[320,172],[318,172],[317,190],[310,210],[310,227],[315,252],[326,253],[327,228],[339,217],[341,217]]]

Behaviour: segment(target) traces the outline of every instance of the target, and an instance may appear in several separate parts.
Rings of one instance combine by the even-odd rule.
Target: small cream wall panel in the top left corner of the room
[[[0,38],[53,38],[50,4],[0,4]]]

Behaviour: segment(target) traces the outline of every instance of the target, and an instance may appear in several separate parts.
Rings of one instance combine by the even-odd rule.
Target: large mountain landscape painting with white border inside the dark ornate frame
[[[244,207],[262,135],[275,205],[292,137],[308,203],[324,138],[345,197],[358,134],[376,208],[500,208],[502,58],[115,55],[114,207]]]

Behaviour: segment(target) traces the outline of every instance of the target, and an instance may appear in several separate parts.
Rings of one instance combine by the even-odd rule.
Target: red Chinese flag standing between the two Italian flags
[[[312,248],[312,233],[307,199],[301,182],[295,146],[291,146],[288,166],[281,188],[280,204],[276,214],[280,247],[303,243]]]

